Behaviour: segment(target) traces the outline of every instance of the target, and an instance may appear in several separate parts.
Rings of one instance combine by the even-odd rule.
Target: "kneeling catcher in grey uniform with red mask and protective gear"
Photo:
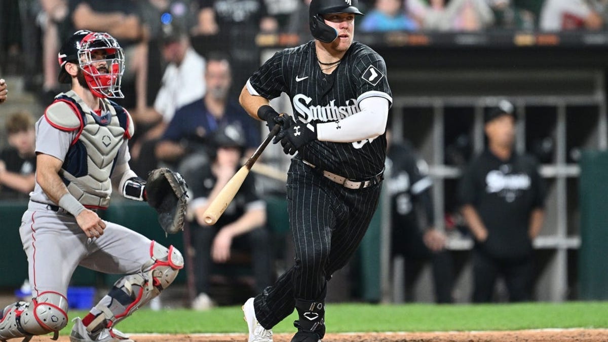
[[[59,94],[36,122],[36,185],[19,232],[29,262],[33,299],[0,313],[0,341],[57,333],[67,324],[67,285],[78,265],[128,274],[70,336],[77,341],[119,341],[114,326],[173,282],[183,266],[178,250],[165,248],[120,225],[101,220],[112,184],[144,200],[145,181],[131,171],[129,113],[108,97],[122,97],[123,51],[107,33],[80,30],[60,49]],[[129,340],[130,341],[130,340]]]

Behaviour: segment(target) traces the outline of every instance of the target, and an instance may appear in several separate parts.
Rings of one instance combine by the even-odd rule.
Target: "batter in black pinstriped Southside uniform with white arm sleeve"
[[[287,184],[295,265],[243,305],[249,341],[272,341],[272,327],[294,308],[291,341],[323,338],[326,283],[359,246],[378,204],[392,95],[382,57],[353,41],[357,5],[313,0],[315,39],[277,52],[241,92],[252,117],[282,125],[275,142],[285,153],[297,152]],[[269,106],[281,92],[294,117]]]

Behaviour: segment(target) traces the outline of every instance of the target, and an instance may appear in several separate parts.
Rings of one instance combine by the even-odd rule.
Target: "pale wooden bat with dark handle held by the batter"
[[[266,139],[258,146],[257,150],[255,150],[254,154],[247,159],[245,164],[235,173],[232,178],[226,183],[226,185],[219,191],[219,194],[213,198],[207,210],[203,213],[203,217],[205,223],[207,225],[215,225],[218,222],[219,217],[224,214],[224,211],[228,207],[228,204],[232,201],[234,196],[237,194],[238,189],[243,185],[243,181],[249,174],[249,170],[252,166],[254,166],[255,161],[258,160],[264,148],[268,146],[269,142],[277,135],[278,131],[281,129],[281,125],[274,125]]]

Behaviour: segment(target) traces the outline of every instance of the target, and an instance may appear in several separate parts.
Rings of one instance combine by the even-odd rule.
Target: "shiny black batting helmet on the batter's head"
[[[359,12],[357,0],[312,0],[310,2],[310,32],[313,37],[323,43],[331,43],[338,37],[336,29],[325,24],[324,14],[328,13],[354,13]]]

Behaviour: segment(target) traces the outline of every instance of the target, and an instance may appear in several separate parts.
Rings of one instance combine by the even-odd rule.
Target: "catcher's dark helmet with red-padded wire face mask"
[[[100,58],[101,57],[101,58]],[[58,54],[61,67],[60,83],[71,83],[65,69],[67,62],[78,63],[85,76],[86,85],[97,97],[124,97],[120,91],[125,71],[125,54],[116,39],[103,32],[79,30],[61,46]],[[100,72],[98,68],[105,67]]]

